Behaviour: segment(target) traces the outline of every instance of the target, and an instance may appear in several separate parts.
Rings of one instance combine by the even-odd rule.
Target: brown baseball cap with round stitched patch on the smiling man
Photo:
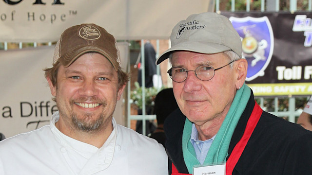
[[[96,24],[80,24],[66,29],[57,42],[53,64],[59,61],[68,67],[79,56],[88,52],[105,56],[116,71],[121,65],[115,37]]]

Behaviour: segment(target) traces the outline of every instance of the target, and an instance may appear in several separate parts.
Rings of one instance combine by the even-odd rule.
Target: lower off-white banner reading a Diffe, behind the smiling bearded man
[[[125,68],[128,44],[117,45],[122,68]],[[49,124],[50,117],[58,110],[43,71],[52,67],[54,48],[0,51],[0,133],[6,138]],[[116,107],[114,117],[117,123],[124,125],[122,100]]]

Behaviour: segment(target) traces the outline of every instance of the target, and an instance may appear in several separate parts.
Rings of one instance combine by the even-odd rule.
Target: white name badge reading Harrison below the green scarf
[[[225,175],[225,163],[193,168],[193,175]]]

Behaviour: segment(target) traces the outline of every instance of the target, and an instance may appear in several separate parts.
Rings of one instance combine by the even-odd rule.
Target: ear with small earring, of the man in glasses
[[[247,76],[247,68],[248,68],[248,62],[246,59],[242,58],[239,59],[236,62],[236,88],[239,89],[243,86],[245,83],[245,79]]]

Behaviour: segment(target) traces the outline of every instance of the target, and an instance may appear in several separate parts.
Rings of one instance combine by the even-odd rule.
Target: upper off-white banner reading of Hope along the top
[[[214,0],[0,0],[0,41],[57,41],[66,28],[96,23],[117,39],[168,39],[174,25]]]

